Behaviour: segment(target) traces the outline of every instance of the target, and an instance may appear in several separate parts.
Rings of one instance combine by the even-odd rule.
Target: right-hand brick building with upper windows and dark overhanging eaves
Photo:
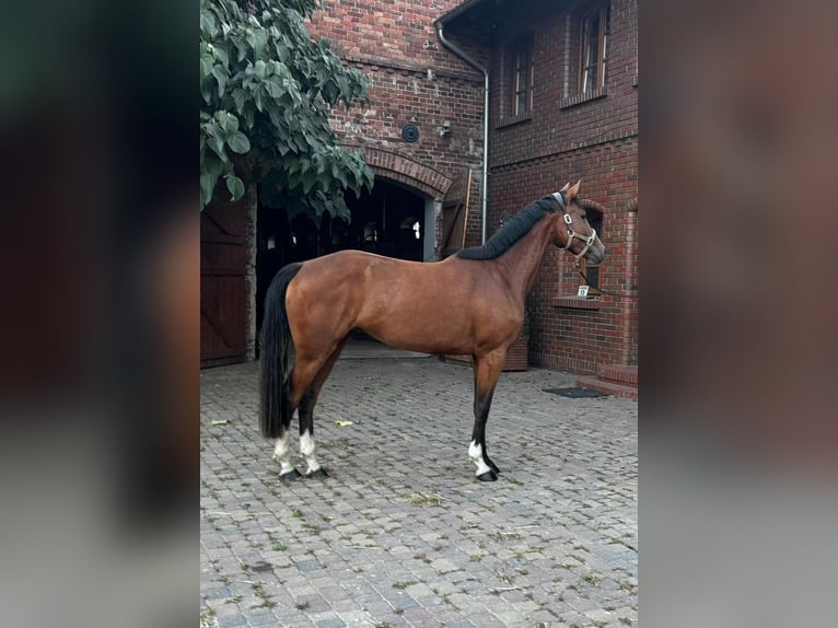
[[[638,361],[637,0],[472,0],[441,22],[489,51],[489,232],[503,211],[577,178],[602,209],[589,211],[608,247],[585,269],[596,298],[577,298],[585,280],[550,252],[527,302],[531,362],[616,365],[614,379],[636,383],[621,367]]]

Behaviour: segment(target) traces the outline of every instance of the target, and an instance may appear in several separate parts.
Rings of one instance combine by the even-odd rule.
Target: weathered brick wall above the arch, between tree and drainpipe
[[[482,75],[445,50],[434,28],[434,21],[457,4],[326,0],[315,13],[312,34],[328,37],[345,63],[369,80],[368,107],[333,114],[333,127],[345,144],[401,155],[405,159],[396,163],[417,162],[447,179],[464,166],[480,167]],[[488,62],[487,50],[476,54]],[[442,138],[439,128],[445,120],[451,132]],[[418,127],[418,141],[401,138],[406,124]],[[416,189],[428,194],[433,185],[426,183]],[[475,193],[479,183],[478,178]]]

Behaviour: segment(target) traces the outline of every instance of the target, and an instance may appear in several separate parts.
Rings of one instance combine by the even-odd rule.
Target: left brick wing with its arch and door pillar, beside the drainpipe
[[[368,79],[371,106],[335,111],[333,126],[342,143],[364,152],[376,187],[396,184],[422,199],[426,261],[440,256],[443,200],[452,186],[468,187],[464,179],[477,212],[469,212],[469,236],[480,239],[484,78],[447,51],[435,31],[437,19],[456,5],[327,0],[310,25]],[[488,50],[464,45],[487,58]]]

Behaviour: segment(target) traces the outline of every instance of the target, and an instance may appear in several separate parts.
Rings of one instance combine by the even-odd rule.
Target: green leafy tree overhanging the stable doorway
[[[201,0],[201,209],[224,182],[233,200],[290,218],[348,219],[344,191],[372,187],[361,154],[338,146],[333,107],[368,102],[361,73],[303,24],[316,0]],[[218,188],[220,194],[223,187]]]

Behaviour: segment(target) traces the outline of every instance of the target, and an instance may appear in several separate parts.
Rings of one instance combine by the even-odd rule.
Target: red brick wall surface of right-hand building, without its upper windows
[[[594,371],[597,364],[637,364],[637,1],[612,2],[607,95],[571,106],[563,101],[577,95],[579,12],[532,13],[503,22],[508,37],[534,34],[532,119],[501,120],[509,114],[504,37],[492,47],[490,232],[502,211],[517,211],[582,178],[582,196],[606,208],[601,237],[608,251],[600,270],[604,295],[598,310],[559,306],[559,298],[577,293],[579,275],[572,257],[550,252],[527,301],[531,361],[578,372]]]

